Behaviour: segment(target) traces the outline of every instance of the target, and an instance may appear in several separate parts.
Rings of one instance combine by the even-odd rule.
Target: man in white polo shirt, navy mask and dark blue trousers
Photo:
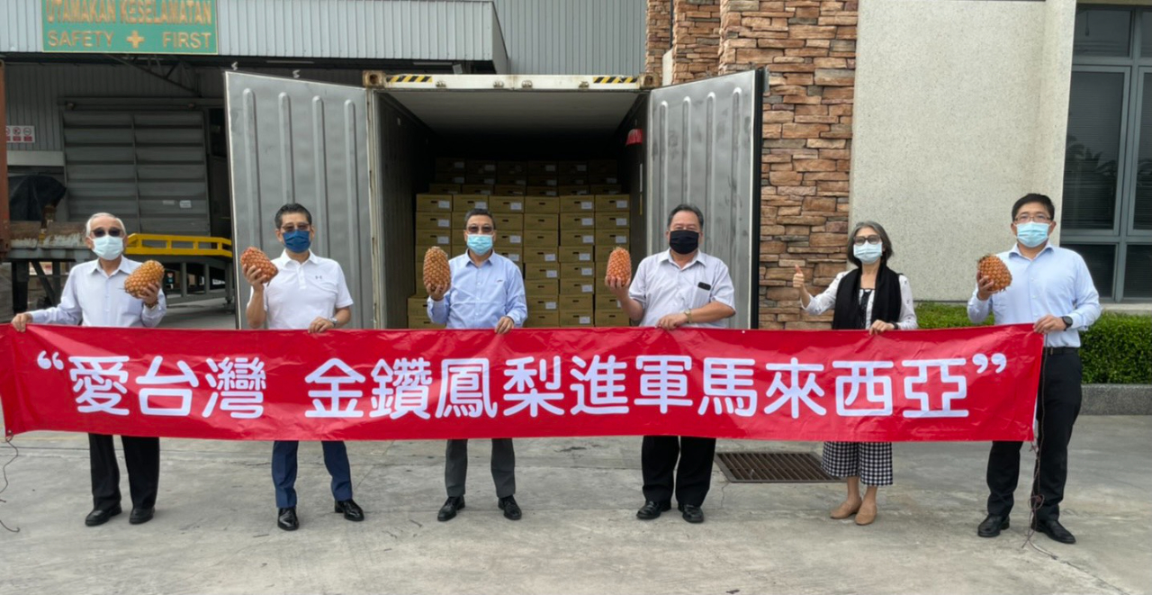
[[[353,298],[344,283],[340,263],[321,258],[311,251],[316,228],[312,213],[300,204],[286,204],[276,211],[276,239],[285,253],[272,261],[280,272],[271,280],[253,268],[244,268],[252,285],[248,301],[248,324],[259,329],[308,330],[321,333],[339,329],[353,318]],[[296,530],[296,440],[276,440],[272,446],[272,482],[276,489],[276,526]],[[335,512],[350,521],[364,520],[364,511],[353,500],[351,468],[343,442],[325,440],[324,465],[332,475]]]

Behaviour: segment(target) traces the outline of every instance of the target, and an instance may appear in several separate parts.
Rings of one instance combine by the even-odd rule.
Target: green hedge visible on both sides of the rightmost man
[[[956,303],[917,303],[916,318],[920,329],[975,326]],[[1104,312],[1081,342],[1085,384],[1152,384],[1152,316]]]

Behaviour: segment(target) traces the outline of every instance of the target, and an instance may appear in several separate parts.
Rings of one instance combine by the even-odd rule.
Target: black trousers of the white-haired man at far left
[[[132,507],[156,506],[160,484],[160,438],[121,436],[120,444],[124,450]],[[108,510],[120,504],[120,466],[112,436],[89,434],[88,451],[92,462],[92,507]]]

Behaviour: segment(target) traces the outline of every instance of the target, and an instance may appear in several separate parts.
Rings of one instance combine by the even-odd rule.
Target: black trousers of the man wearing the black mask
[[[715,452],[715,438],[645,436],[641,447],[644,499],[670,502],[675,494],[681,505],[703,505],[712,485],[712,457]]]

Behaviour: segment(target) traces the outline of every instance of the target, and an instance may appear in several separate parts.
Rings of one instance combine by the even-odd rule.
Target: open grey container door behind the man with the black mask
[[[700,249],[728,265],[735,329],[757,326],[760,214],[760,99],[764,71],[653,89],[649,100],[649,249],[667,250],[668,212],[704,211]]]

